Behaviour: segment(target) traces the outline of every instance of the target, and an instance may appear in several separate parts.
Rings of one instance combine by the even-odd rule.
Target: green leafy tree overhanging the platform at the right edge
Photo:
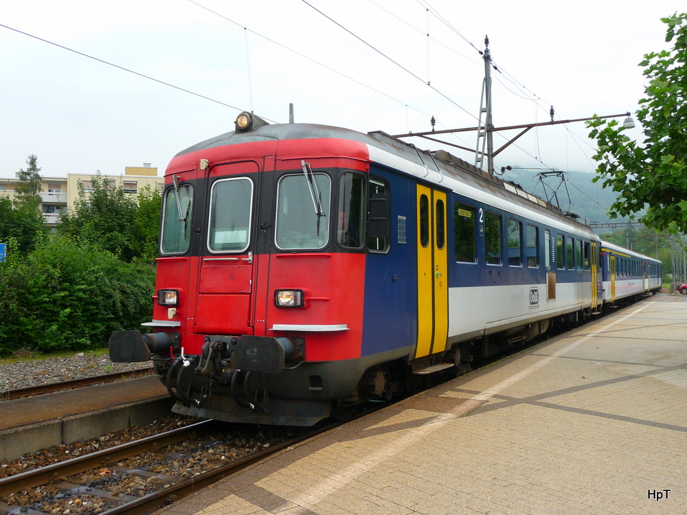
[[[640,220],[649,227],[687,231],[687,14],[674,14],[666,42],[673,49],[651,52],[640,66],[649,84],[644,88],[637,118],[644,129],[639,144],[613,120],[593,119],[589,137],[596,139],[599,162],[594,181],[618,193],[611,218],[629,216],[646,208]]]

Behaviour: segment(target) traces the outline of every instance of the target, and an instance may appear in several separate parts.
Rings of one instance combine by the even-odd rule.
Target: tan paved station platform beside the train
[[[684,514],[687,299],[659,295],[157,512]]]

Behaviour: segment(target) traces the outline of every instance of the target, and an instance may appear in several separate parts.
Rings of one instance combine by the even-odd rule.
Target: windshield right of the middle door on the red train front
[[[277,230],[280,249],[322,249],[329,240],[331,181],[327,174],[313,173],[322,213],[313,208],[308,180],[303,174],[283,176],[277,188]]]

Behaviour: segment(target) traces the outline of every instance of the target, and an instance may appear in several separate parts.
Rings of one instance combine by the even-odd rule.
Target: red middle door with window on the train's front
[[[257,263],[251,226],[258,170],[255,161],[205,170],[207,239],[199,264],[196,333],[253,334],[251,286]]]

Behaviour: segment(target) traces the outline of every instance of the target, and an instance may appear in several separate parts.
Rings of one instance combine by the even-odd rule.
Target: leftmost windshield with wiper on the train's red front
[[[191,216],[193,213],[193,187],[170,187],[164,198],[162,216],[161,251],[177,254],[188,251],[191,240]]]

